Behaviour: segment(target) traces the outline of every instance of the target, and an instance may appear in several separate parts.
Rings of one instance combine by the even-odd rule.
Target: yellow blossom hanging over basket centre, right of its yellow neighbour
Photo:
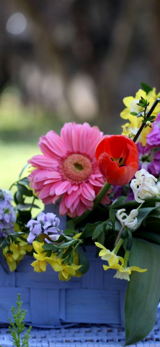
[[[78,271],[78,269],[81,268],[82,265],[78,265],[79,259],[76,251],[74,252],[73,263],[71,265],[68,265],[68,263],[62,264],[63,260],[64,259],[61,259],[60,257],[53,259],[53,255],[51,255],[50,261],[48,261],[52,269],[56,272],[59,272],[58,277],[61,281],[69,281],[72,276],[82,276],[82,273]]]

